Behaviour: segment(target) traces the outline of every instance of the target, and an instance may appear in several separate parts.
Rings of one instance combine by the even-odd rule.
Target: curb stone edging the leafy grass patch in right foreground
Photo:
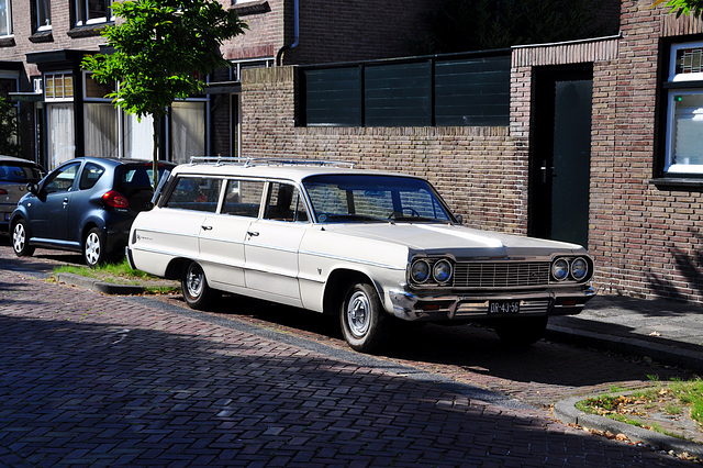
[[[687,453],[703,458],[703,445],[701,444],[614,421],[610,417],[584,413],[576,408],[579,401],[588,398],[590,397],[581,395],[558,401],[554,405],[554,416],[566,424],[577,424],[587,430],[610,431],[613,434],[624,434],[633,442],[641,442],[651,447],[658,447],[660,450],[673,450],[677,454]]]

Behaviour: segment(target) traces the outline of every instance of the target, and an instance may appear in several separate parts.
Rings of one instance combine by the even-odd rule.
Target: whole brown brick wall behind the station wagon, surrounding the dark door
[[[703,303],[702,190],[652,182],[660,38],[703,27],[650,3],[623,2],[620,38],[515,48],[510,127],[297,127],[294,68],[252,70],[243,77],[243,155],[422,175],[465,224],[526,234],[533,71],[592,64],[589,249],[596,287]]]

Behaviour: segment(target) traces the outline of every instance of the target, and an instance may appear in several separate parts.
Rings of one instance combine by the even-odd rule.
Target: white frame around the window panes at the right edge
[[[676,118],[677,118],[677,97],[680,96],[692,96],[692,94],[703,94],[703,86],[698,87],[693,83],[693,81],[703,82],[703,71],[700,73],[691,73],[691,74],[677,74],[677,55],[678,52],[682,48],[701,48],[703,49],[703,42],[688,42],[674,44],[671,46],[670,58],[669,58],[669,77],[668,82],[678,82],[685,83],[691,82],[690,88],[670,88],[667,90],[667,135],[666,135],[666,160],[665,160],[665,174],[669,175],[685,175],[685,174],[694,174],[703,175],[703,164],[677,164],[674,161],[674,144],[676,144]],[[703,120],[703,108],[700,108],[700,113],[698,111],[692,112],[694,114],[693,119]],[[701,115],[699,119],[698,115]],[[703,124],[702,124],[703,125]],[[703,135],[701,144],[703,144]]]

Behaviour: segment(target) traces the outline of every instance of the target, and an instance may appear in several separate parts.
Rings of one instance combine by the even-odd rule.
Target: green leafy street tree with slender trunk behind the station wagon
[[[174,101],[201,92],[202,77],[228,66],[220,47],[247,25],[216,0],[125,0],[112,11],[119,20],[101,35],[113,52],[86,56],[81,66],[98,82],[118,83],[107,96],[116,108],[154,118],[156,186],[160,119]]]

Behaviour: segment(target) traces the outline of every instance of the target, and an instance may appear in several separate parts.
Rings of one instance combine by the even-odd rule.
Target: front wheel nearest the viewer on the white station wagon
[[[378,348],[386,337],[388,319],[371,285],[360,282],[347,290],[339,321],[344,339],[352,349],[369,353]]]

